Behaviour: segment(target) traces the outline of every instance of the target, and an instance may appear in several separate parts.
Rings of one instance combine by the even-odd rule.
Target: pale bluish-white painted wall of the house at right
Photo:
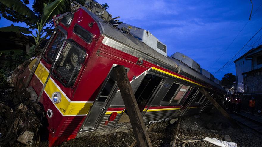
[[[236,92],[244,92],[244,79],[242,73],[252,70],[252,60],[245,57],[235,62],[236,67]]]

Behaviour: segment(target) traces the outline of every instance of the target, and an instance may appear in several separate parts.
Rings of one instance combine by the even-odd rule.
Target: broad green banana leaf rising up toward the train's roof
[[[64,12],[66,10],[67,4],[67,0],[56,0],[48,5],[44,3],[41,20],[42,24],[45,24],[48,20],[52,19],[54,15]]]

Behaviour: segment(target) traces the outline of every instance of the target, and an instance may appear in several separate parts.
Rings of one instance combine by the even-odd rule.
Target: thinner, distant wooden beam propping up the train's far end
[[[209,95],[209,93],[208,93],[204,88],[199,88],[199,91],[200,91],[202,94],[204,94],[204,96],[216,107],[217,110],[219,110],[219,112],[220,112],[225,118],[227,118],[233,125],[238,126],[238,124],[236,123],[236,121],[229,116],[229,114],[227,113],[227,111],[224,110],[224,108],[222,108],[221,105],[219,105],[219,103],[216,102],[216,100],[213,99],[213,97],[211,97],[211,96]]]

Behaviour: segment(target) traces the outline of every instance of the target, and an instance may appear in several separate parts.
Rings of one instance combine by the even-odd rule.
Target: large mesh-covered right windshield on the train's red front
[[[85,51],[67,40],[57,55],[53,74],[64,86],[72,86],[81,68],[80,61],[85,58]]]

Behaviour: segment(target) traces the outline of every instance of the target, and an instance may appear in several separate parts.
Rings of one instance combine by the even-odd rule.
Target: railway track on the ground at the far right
[[[235,119],[237,122],[255,130],[258,133],[262,134],[262,122],[256,121],[252,118],[249,118],[247,116],[243,116],[237,112],[229,113],[229,115]]]

